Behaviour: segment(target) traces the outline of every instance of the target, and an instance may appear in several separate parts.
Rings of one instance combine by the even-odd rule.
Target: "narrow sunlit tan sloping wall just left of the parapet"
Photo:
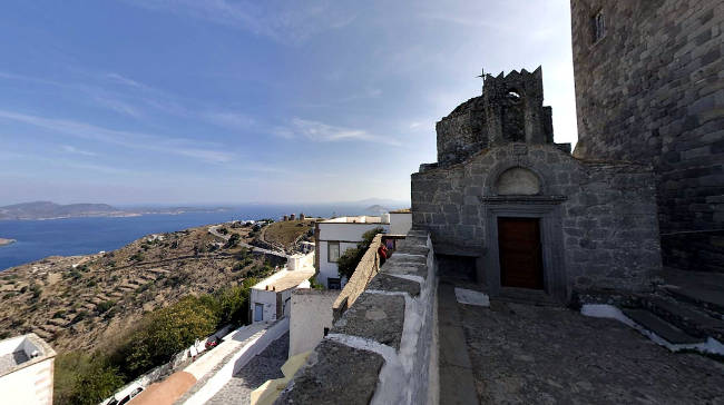
[[[342,313],[354,304],[372,278],[380,273],[380,255],[378,254],[380,245],[382,245],[382,234],[378,234],[372,239],[372,243],[364,253],[364,256],[362,256],[360,264],[354,268],[354,274],[346,281],[344,288],[342,288],[342,292],[334,300],[334,304],[332,305],[334,319],[339,319],[342,316]]]

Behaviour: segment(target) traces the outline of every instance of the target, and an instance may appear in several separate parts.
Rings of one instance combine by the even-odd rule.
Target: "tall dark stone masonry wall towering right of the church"
[[[724,2],[571,0],[571,24],[576,156],[652,164],[665,264],[724,271]]]

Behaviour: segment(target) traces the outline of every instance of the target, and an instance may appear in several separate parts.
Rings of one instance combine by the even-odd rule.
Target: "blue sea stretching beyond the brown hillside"
[[[85,217],[42,220],[0,220],[0,238],[16,239],[0,246],[0,271],[48,256],[89,255],[118,249],[143,236],[239,219],[272,218],[286,214],[331,217],[376,215],[369,206],[247,205],[223,211],[148,214],[136,217]],[[398,208],[398,207],[390,207]]]

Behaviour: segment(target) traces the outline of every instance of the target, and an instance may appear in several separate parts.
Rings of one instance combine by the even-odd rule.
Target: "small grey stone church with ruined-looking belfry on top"
[[[486,75],[437,125],[438,162],[412,175],[414,227],[491,296],[642,290],[661,268],[652,167],[554,144],[542,71]]]

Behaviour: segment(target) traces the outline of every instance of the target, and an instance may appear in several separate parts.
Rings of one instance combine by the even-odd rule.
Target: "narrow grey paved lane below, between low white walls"
[[[252,358],[234,378],[212,397],[206,404],[250,404],[252,391],[267,379],[282,378],[282,365],[290,352],[290,334],[284,334],[272,342],[264,352]]]

